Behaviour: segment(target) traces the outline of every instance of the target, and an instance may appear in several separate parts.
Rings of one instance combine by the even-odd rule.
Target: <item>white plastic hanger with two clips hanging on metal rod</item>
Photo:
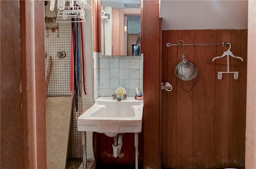
[[[234,57],[236,59],[240,59],[241,61],[244,61],[244,59],[242,57],[238,57],[238,56],[235,56],[233,55],[232,51],[230,51],[230,48],[231,48],[231,44],[230,43],[224,43],[224,45],[228,44],[229,45],[229,48],[227,51],[225,51],[222,55],[220,56],[216,56],[214,58],[212,58],[212,61],[214,61],[215,59],[219,59],[219,58],[222,58],[224,56],[227,56],[227,67],[228,67],[228,70],[226,72],[218,72],[218,79],[222,79],[222,73],[234,73],[234,79],[238,79],[238,72],[230,72],[229,71],[229,56],[231,57]]]

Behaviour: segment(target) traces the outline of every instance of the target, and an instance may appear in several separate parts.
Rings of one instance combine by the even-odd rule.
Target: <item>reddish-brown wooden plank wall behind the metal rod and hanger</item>
[[[222,45],[185,46],[188,61],[194,62],[200,80],[190,92],[179,87],[174,67],[182,61],[183,47],[165,47],[177,43],[230,42],[234,55],[230,71],[238,71],[238,79],[218,71],[226,71],[228,47]],[[169,81],[173,90],[162,91],[161,159],[164,168],[244,167],[246,118],[247,30],[169,30],[162,31],[162,81]],[[189,89],[192,81],[182,81]]]

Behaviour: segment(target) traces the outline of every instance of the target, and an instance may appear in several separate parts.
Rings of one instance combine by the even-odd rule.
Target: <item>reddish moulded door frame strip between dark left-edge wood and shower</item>
[[[28,168],[46,168],[44,1],[21,0],[20,11],[22,67],[26,67],[22,69],[25,163]]]

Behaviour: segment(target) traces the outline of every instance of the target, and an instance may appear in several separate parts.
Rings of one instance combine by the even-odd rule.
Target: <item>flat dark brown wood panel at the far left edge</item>
[[[20,3],[0,1],[1,7],[1,168],[24,168],[21,82]],[[11,8],[10,8],[11,7]],[[16,22],[10,22],[16,20]],[[12,37],[12,38],[10,38]],[[6,50],[7,49],[7,50]],[[11,50],[10,50],[11,49]],[[16,56],[16,57],[14,57]],[[6,111],[7,110],[7,111]],[[12,120],[10,120],[12,119]],[[14,146],[15,145],[15,146]]]

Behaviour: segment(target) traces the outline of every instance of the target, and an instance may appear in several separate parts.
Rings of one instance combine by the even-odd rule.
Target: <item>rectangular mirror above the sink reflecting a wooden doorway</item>
[[[140,55],[140,0],[101,0],[102,55]]]

